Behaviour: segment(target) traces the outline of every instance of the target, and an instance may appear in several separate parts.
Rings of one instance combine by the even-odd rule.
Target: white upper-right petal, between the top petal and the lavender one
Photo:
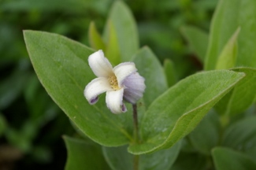
[[[133,62],[124,62],[113,68],[113,72],[117,77],[117,82],[119,86],[122,85],[124,79],[127,76],[130,76],[132,73],[136,71],[137,71],[137,68],[135,68],[135,64]]]

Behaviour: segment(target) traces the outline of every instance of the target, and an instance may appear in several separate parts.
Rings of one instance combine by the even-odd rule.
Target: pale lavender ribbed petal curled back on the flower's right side
[[[127,102],[135,104],[139,98],[143,97],[146,85],[143,76],[139,76],[138,72],[133,73],[124,79],[124,99]]]

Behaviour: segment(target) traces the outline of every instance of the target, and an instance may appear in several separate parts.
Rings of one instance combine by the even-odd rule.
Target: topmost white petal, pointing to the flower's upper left
[[[98,50],[94,54],[91,54],[88,61],[95,76],[108,77],[113,75],[113,67],[108,59],[104,57],[102,50]]]

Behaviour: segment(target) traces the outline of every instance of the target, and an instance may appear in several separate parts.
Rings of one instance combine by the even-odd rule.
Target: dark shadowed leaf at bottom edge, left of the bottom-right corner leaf
[[[170,170],[205,170],[206,157],[198,153],[180,152]]]

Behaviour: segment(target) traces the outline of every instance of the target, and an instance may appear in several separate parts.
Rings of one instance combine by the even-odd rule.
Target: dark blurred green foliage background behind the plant
[[[0,170],[63,169],[61,136],[76,135],[39,83],[22,31],[50,31],[88,46],[91,20],[102,32],[113,1],[0,0]],[[180,29],[191,25],[209,32],[217,0],[124,2],[138,24],[140,46],[150,46],[161,62],[171,59],[178,79],[202,69]]]

